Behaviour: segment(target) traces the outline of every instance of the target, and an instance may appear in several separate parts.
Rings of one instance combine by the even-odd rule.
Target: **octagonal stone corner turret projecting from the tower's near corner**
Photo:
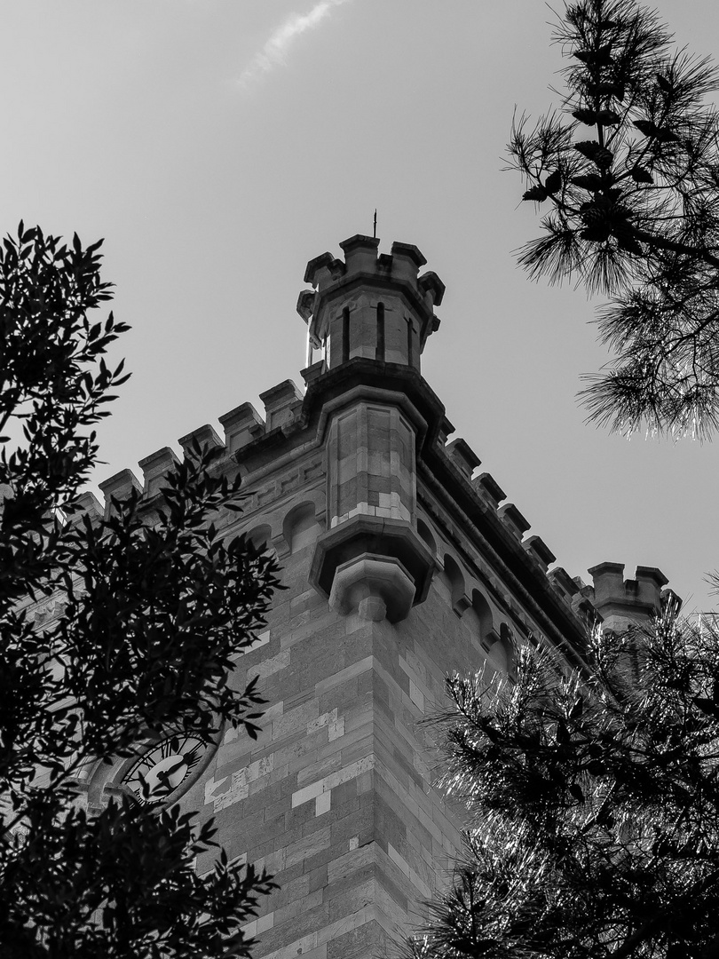
[[[409,394],[445,287],[435,273],[419,275],[427,261],[411,244],[378,256],[380,241],[358,234],[339,246],[344,261],[330,253],[310,261],[313,290],[297,302],[308,324],[306,372],[320,393],[332,384],[321,401],[327,530],[310,581],[344,614],[396,622],[424,601],[434,568],[416,517],[417,449],[428,422]],[[313,364],[314,348],[321,363]],[[345,364],[348,375],[337,376]]]

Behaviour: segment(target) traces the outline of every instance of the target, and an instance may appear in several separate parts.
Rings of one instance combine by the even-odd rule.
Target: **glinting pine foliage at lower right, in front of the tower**
[[[719,955],[719,631],[597,627],[587,668],[449,681],[443,784],[471,828],[412,959]]]

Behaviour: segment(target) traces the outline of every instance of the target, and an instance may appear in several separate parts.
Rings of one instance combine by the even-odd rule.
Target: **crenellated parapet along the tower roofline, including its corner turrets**
[[[550,569],[552,550],[499,483],[479,472],[469,444],[451,438],[452,423],[419,369],[445,292],[436,273],[420,273],[420,250],[394,243],[380,253],[379,240],[360,234],[339,246],[343,259],[323,253],[310,261],[305,280],[313,289],[297,304],[313,346],[322,349],[302,371],[306,390],[284,380],[261,394],[263,413],[251,403],[230,409],[218,429],[205,424],[180,437],[177,452],[162,447],[141,459],[141,479],[122,470],[104,480],[104,509],[88,502],[87,511],[107,516],[113,500],[134,491],[151,516],[179,457],[205,445],[220,451],[217,469],[240,470],[248,513],[269,517],[274,510],[253,528],[267,526],[264,541],[281,557],[290,551],[289,534],[274,503],[294,508],[288,492],[323,476],[321,505],[302,507],[318,530],[309,579],[342,615],[399,621],[425,602],[442,564],[428,521],[418,523],[420,495],[435,501],[432,508],[446,503],[440,526],[465,543],[473,562],[483,557],[477,569],[487,588],[499,597],[496,584],[508,583],[502,588],[514,599],[507,608],[521,598],[555,642],[571,634],[578,643],[597,617],[611,624],[656,611],[666,582],[657,570],[639,567],[625,582],[623,567],[601,564],[591,571],[591,588]],[[302,457],[312,463],[298,465]]]

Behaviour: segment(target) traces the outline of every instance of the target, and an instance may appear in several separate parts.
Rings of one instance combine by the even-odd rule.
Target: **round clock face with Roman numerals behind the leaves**
[[[161,739],[132,763],[123,783],[139,803],[164,803],[190,778],[208,748],[204,739],[184,733]]]

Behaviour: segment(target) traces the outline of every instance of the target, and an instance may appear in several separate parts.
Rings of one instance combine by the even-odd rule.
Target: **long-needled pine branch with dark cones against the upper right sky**
[[[583,390],[622,432],[710,436],[719,425],[717,69],[673,47],[635,0],[565,5],[561,107],[513,125],[509,156],[543,211],[520,263],[608,297],[614,354]]]

